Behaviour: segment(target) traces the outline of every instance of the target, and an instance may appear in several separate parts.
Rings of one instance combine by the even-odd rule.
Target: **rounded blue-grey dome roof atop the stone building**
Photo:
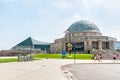
[[[99,28],[92,22],[86,21],[86,20],[81,20],[78,22],[73,23],[68,30],[71,33],[75,32],[98,32],[101,33]]]

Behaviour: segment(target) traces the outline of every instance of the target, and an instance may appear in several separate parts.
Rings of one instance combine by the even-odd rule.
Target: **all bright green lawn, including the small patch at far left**
[[[62,54],[35,54],[33,55],[33,60],[40,60],[41,58],[62,59]],[[93,58],[93,54],[75,54],[75,59],[91,60],[92,58]],[[74,54],[72,54],[71,56],[67,54],[65,59],[74,59]],[[17,61],[18,61],[18,58],[0,59],[0,63],[17,62]]]

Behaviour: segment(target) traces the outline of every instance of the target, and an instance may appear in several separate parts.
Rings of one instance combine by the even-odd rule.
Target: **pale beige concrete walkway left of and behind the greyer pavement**
[[[76,63],[113,63],[112,60],[102,62],[75,61]],[[120,63],[120,61],[114,63]],[[0,80],[67,80],[61,70],[61,66],[67,64],[74,64],[74,60],[43,59],[31,62],[1,63]]]

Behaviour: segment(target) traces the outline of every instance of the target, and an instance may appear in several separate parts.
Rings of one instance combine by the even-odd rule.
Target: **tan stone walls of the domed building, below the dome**
[[[50,50],[52,53],[60,53],[61,51],[66,50],[66,44],[69,43],[69,37],[65,37],[63,39],[57,39],[55,40],[55,43],[52,43],[50,46]],[[116,40],[114,38],[114,40]],[[114,41],[113,38],[112,40],[108,40],[107,36],[96,36],[96,37],[91,37],[88,36],[86,37],[74,37],[71,40],[71,43],[77,43],[77,42],[83,42],[84,43],[84,51],[82,52],[87,52],[88,50],[93,50],[93,49],[114,49]],[[98,44],[98,47],[94,47],[93,43],[96,42]],[[96,44],[96,45],[97,45]]]

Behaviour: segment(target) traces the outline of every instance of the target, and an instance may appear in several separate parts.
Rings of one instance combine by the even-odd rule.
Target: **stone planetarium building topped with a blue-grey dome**
[[[72,51],[75,52],[92,53],[94,50],[114,49],[116,38],[103,36],[98,26],[90,21],[75,22],[65,32],[63,38],[56,39],[50,45],[51,53],[67,51],[68,43],[72,44]]]

